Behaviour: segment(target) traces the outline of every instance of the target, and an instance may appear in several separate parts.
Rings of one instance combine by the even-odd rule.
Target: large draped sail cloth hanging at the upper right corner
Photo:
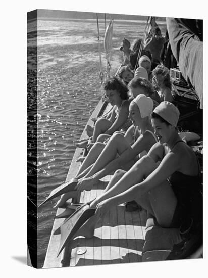
[[[186,25],[185,19],[166,18],[173,55],[187,82],[194,87],[203,108],[203,42]]]

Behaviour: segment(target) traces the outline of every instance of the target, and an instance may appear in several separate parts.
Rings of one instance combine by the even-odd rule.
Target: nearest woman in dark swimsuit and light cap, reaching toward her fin
[[[194,152],[178,135],[179,111],[172,103],[162,102],[151,116],[159,142],[121,178],[113,178],[109,190],[90,204],[96,207],[95,216],[83,225],[82,235],[93,236],[96,218],[131,200],[162,227],[180,227],[187,217],[190,225],[197,221],[202,206],[199,167]]]

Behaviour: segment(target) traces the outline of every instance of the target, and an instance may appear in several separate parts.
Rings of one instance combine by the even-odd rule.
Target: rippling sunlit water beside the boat
[[[107,26],[108,23],[109,19]],[[165,22],[159,23],[159,26],[164,34]],[[111,75],[123,62],[119,51],[122,38],[126,37],[133,43],[136,38],[142,37],[144,28],[145,21],[114,21]],[[99,31],[102,72],[105,72],[104,20],[99,21]],[[36,34],[37,52],[34,50]],[[36,63],[37,80],[31,82],[30,77],[36,73]],[[37,109],[28,115],[28,181],[32,189],[28,195],[35,200],[34,176],[37,175],[37,204],[66,179],[75,151],[74,140],[80,137],[103,94],[99,71],[96,20],[38,18],[37,22],[28,22],[28,109],[33,112]],[[37,96],[37,102],[34,96]],[[37,146],[34,146],[36,133]],[[38,267],[43,266],[56,214],[53,206],[58,199],[38,209]]]

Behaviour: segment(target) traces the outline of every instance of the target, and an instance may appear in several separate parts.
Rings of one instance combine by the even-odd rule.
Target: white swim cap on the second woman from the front
[[[132,102],[135,102],[139,108],[141,118],[149,116],[153,109],[153,101],[144,94],[139,94]]]

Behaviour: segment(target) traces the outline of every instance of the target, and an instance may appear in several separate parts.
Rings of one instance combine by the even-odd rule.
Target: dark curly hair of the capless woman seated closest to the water
[[[117,90],[122,100],[128,100],[128,88],[118,78],[113,77],[104,84],[105,90]]]

